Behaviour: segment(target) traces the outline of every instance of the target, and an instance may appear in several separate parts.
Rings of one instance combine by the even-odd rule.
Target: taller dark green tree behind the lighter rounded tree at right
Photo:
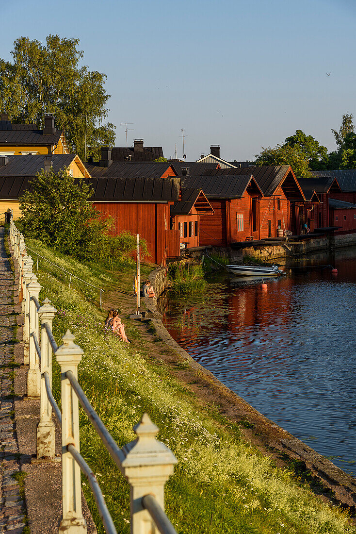
[[[311,135],[307,136],[302,130],[296,130],[294,135],[287,137],[285,145],[296,148],[311,170],[327,169],[328,149]]]

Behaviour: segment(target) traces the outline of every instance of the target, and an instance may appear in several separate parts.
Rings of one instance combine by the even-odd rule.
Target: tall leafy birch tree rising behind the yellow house
[[[80,66],[83,51],[78,39],[49,35],[46,45],[28,37],[14,42],[13,62],[0,59],[0,109],[18,123],[44,125],[46,113],[56,114],[56,127],[64,129],[70,150],[84,158],[99,159],[100,145],[115,142],[114,124],[104,123],[109,95],[106,76]]]

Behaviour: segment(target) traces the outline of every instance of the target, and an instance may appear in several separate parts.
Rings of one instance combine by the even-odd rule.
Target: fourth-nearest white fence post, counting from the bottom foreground
[[[27,373],[27,396],[39,397],[41,395],[41,372],[38,365],[38,354],[35,347],[35,342],[32,337],[34,332],[38,340],[38,316],[36,304],[31,297],[36,297],[41,290],[41,285],[38,284],[37,277],[32,274],[30,282],[28,284],[28,296],[29,296],[29,365],[30,368]]]

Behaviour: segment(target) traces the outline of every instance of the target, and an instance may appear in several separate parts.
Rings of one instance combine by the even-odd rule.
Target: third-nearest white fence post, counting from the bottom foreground
[[[48,373],[52,389],[52,347],[49,342],[45,325],[52,329],[52,320],[56,315],[56,308],[46,297],[41,308],[37,310],[41,319],[41,418],[37,425],[37,458],[54,458],[56,455],[56,441],[54,422],[52,421],[52,406],[48,400],[43,373]]]

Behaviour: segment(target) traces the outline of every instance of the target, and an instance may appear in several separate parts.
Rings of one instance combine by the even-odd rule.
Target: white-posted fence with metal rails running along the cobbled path
[[[164,512],[164,484],[173,473],[177,460],[170,449],[157,441],[159,431],[145,413],[133,427],[137,439],[117,446],[104,423],[86,398],[77,381],[78,364],[83,350],[74,343],[68,330],[57,346],[52,334],[52,320],[57,310],[48,299],[42,305],[38,301],[41,285],[32,272],[33,261],[27,255],[23,235],[10,221],[10,243],[19,272],[19,297],[25,314],[23,341],[27,373],[27,395],[41,397],[41,414],[37,425],[37,458],[54,459],[55,440],[52,409],[62,429],[62,517],[59,532],[84,534],[86,524],[81,505],[81,474],[88,478],[104,528],[109,534],[117,534],[108,512],[100,486],[92,470],[80,454],[78,403],[81,403],[96,428],[110,456],[116,462],[130,484],[131,534],[174,534]],[[39,335],[39,325],[41,335]],[[62,411],[54,400],[52,383],[52,351],[61,368]],[[73,394],[75,393],[75,395]]]

